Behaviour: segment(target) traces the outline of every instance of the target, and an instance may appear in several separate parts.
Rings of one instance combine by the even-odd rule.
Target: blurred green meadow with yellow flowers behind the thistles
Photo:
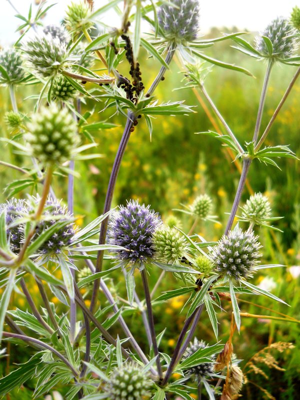
[[[219,32],[211,31],[211,37]],[[205,86],[211,98],[217,105],[226,122],[236,134],[241,143],[250,141],[255,125],[257,106],[262,86],[263,76],[266,69],[264,62],[258,62],[250,57],[239,53],[229,47],[228,42],[220,42],[213,48],[208,49],[207,54],[220,58],[224,61],[241,65],[250,70],[255,78],[231,70],[221,69],[217,66],[212,68],[208,74]],[[143,81],[146,87],[155,77],[159,65],[143,57],[141,62]],[[127,73],[127,65],[123,63],[120,70]],[[197,233],[203,235],[206,240],[217,240],[224,230],[227,214],[234,197],[235,188],[239,179],[239,172],[232,162],[226,148],[220,142],[205,136],[196,135],[194,132],[215,130],[218,122],[213,112],[204,100],[211,116],[204,111],[199,99],[203,97],[199,92],[190,89],[174,90],[183,86],[181,82],[183,74],[180,72],[180,60],[172,61],[170,70],[165,74],[156,92],[159,101],[176,101],[184,99],[189,105],[194,105],[195,113],[182,117],[157,117],[153,119],[153,132],[151,140],[144,120],[140,120],[134,132],[131,134],[123,162],[120,168],[113,205],[125,203],[126,199],[138,198],[140,201],[151,204],[162,217],[181,214],[172,211],[180,208],[180,204],[188,205],[194,197],[201,193],[207,193],[213,198],[214,214],[218,216],[220,223],[205,222],[198,224]],[[285,91],[288,82],[295,73],[296,67],[275,65],[267,91],[265,111],[262,118],[262,128],[266,126],[273,110]],[[36,89],[36,88],[35,88]],[[32,87],[18,88],[16,91],[19,110],[30,113],[32,110],[32,99],[25,99],[32,93]],[[94,104],[87,100],[82,109],[94,107],[93,120],[104,120],[111,116],[111,109],[101,112],[104,104]],[[10,109],[8,89],[0,88],[0,135],[9,136],[4,128],[3,115]],[[299,156],[300,152],[300,81],[294,85],[288,100],[281,109],[276,121],[269,133],[266,145],[289,144],[290,148]],[[93,159],[76,163],[76,170],[80,178],[75,179],[75,215],[78,217],[78,225],[85,225],[95,216],[101,214],[109,173],[113,159],[122,134],[122,126],[125,119],[121,115],[113,115],[109,121],[118,126],[109,130],[99,130],[94,133],[98,146],[95,152],[105,154],[104,158]],[[89,121],[91,122],[91,121]],[[7,162],[15,162],[19,166],[29,165],[28,160],[22,159],[14,154],[11,147],[1,143],[1,159]],[[284,216],[275,222],[275,226],[282,229],[283,233],[274,232],[261,228],[261,242],[264,246],[263,263],[281,263],[286,266],[282,268],[271,268],[263,270],[255,275],[253,283],[271,285],[271,291],[281,297],[290,307],[281,303],[275,303],[269,298],[261,296],[245,296],[241,298],[258,305],[275,309],[293,318],[300,319],[300,186],[299,186],[299,162],[291,159],[280,159],[278,165],[281,169],[265,166],[258,161],[253,162],[249,172],[249,186],[245,188],[242,201],[244,202],[250,192],[263,192],[272,204],[272,216]],[[0,165],[1,188],[13,179],[20,178],[19,172],[4,168]],[[53,187],[58,197],[66,199],[67,181],[64,176],[56,176]],[[26,191],[20,192],[24,196]],[[0,200],[7,197],[5,191],[1,192]],[[188,231],[192,220],[183,218],[184,230]],[[154,285],[159,271],[152,270],[150,279],[151,286]],[[267,279],[266,279],[267,278]],[[179,287],[180,282],[169,277],[164,279],[157,291],[164,291]],[[265,286],[264,286],[265,287]],[[124,294],[123,278],[115,275],[115,292]],[[267,288],[270,288],[267,287]],[[139,282],[137,289],[142,297]],[[32,289],[34,292],[34,288]],[[125,294],[124,294],[125,295]],[[88,293],[86,296],[88,301]],[[55,302],[55,298],[52,299]],[[104,301],[104,299],[103,299]],[[15,294],[15,305],[26,308],[22,296]],[[185,311],[180,313],[184,304],[184,298],[175,298],[165,304],[157,304],[154,307],[155,327],[157,332],[166,326],[166,332],[161,342],[164,352],[171,354],[177,340],[178,332],[184,322]],[[58,304],[59,306],[59,304]],[[228,338],[231,304],[224,302],[224,312],[220,313],[220,336],[223,342]],[[270,310],[260,309],[256,305],[240,303],[242,311],[253,314],[270,314]],[[138,312],[128,312],[126,318],[129,326],[146,344],[145,337],[141,335],[141,318]],[[267,375],[248,374],[248,380],[254,381],[273,397],[267,397],[254,384],[245,385],[242,398],[275,398],[295,399],[300,392],[299,380],[299,329],[297,323],[286,323],[270,321],[264,318],[243,318],[240,335],[235,334],[233,338],[234,351],[238,358],[243,359],[241,366],[253,356],[253,354],[272,342],[292,342],[295,347],[282,353],[272,352],[278,360],[278,365],[284,370],[268,368],[264,364],[257,364]],[[117,329],[117,326],[114,327]],[[209,319],[203,315],[199,323],[197,335],[210,343],[214,342]],[[11,363],[22,362],[27,359],[29,350],[20,353],[11,346]],[[0,373],[5,369],[1,364]],[[8,370],[8,369],[7,369]],[[246,372],[246,369],[244,370]],[[30,384],[29,384],[30,385]],[[30,391],[11,393],[11,399],[31,398]],[[21,397],[20,397],[21,395]],[[26,397],[28,395],[28,397]]]

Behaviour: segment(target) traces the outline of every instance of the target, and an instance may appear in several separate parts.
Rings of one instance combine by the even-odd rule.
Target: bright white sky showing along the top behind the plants
[[[10,0],[18,11],[27,14],[30,0]],[[55,3],[47,13],[43,22],[57,23],[64,15],[66,4],[71,0],[48,0]],[[109,0],[94,0],[95,7],[104,5]],[[121,3],[120,3],[121,4]],[[200,29],[203,33],[210,27],[237,26],[240,30],[262,30],[276,16],[290,15],[295,5],[300,6],[300,0],[199,0],[200,4]],[[36,6],[33,7],[33,10]],[[33,11],[34,12],[34,11]],[[7,45],[15,41],[18,33],[14,33],[16,26],[21,22],[14,17],[15,11],[7,0],[0,0],[0,45]],[[109,21],[109,19],[111,21]],[[118,25],[117,19],[110,14],[105,22]]]

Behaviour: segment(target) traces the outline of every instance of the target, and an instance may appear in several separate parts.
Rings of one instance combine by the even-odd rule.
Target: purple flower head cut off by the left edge
[[[6,215],[6,235],[10,249],[12,252],[18,253],[24,238],[24,225],[22,223],[11,227],[9,225],[28,214],[27,204],[25,200],[19,200],[13,197],[5,203],[0,204],[0,213],[3,210]]]

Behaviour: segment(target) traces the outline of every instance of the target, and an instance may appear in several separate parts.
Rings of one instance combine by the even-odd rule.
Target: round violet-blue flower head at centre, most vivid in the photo
[[[152,235],[161,223],[157,212],[149,205],[140,205],[130,200],[124,207],[114,212],[108,222],[108,240],[110,244],[125,247],[118,250],[117,258],[122,262],[143,263],[154,254]]]

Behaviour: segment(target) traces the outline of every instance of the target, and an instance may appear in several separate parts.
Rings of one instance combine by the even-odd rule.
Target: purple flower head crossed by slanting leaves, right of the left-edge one
[[[33,198],[33,201],[37,204],[39,198]],[[70,221],[62,228],[57,229],[38,249],[39,253],[45,255],[59,254],[64,247],[71,245],[72,238],[75,234],[75,229],[71,220],[72,215],[65,206],[61,205],[59,200],[53,200],[51,197],[47,198],[42,215],[44,219],[37,224],[35,237],[40,235],[44,230],[49,229],[58,220]],[[53,218],[51,218],[51,216],[53,216]]]

